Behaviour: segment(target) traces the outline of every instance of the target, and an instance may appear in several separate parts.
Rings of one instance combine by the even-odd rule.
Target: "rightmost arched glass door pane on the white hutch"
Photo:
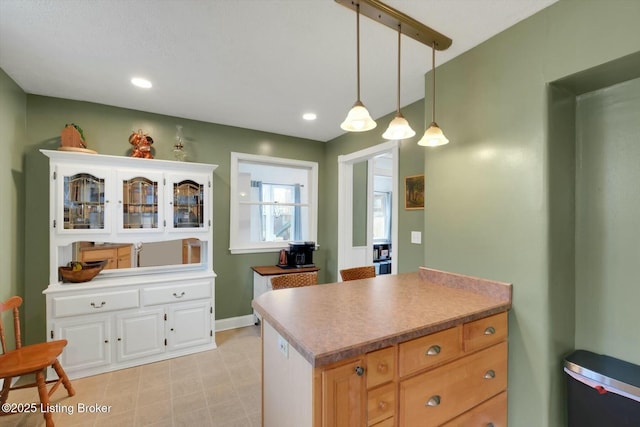
[[[204,228],[205,183],[191,179],[173,182],[172,192],[173,228]]]

